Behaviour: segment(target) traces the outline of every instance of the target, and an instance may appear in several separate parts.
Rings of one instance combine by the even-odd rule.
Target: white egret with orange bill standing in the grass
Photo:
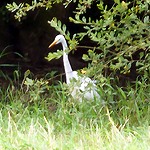
[[[82,99],[93,100],[94,98],[100,99],[100,95],[97,92],[97,87],[90,78],[81,77],[78,75],[77,71],[73,71],[70,65],[68,54],[66,50],[68,49],[67,42],[63,35],[57,35],[49,48],[56,44],[62,44],[63,47],[63,64],[66,74],[66,83],[69,86],[69,90],[74,99],[82,101]],[[72,81],[72,82],[71,82]],[[72,84],[71,84],[72,83]]]

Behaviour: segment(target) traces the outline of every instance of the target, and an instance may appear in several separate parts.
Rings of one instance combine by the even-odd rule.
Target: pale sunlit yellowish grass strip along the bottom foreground
[[[107,113],[109,130],[104,125],[97,125],[89,128],[79,126],[57,132],[54,124],[45,117],[40,120],[30,118],[28,123],[20,126],[8,112],[8,118],[1,118],[0,121],[0,149],[150,149],[150,127],[129,129],[122,125],[117,128],[109,111]]]

